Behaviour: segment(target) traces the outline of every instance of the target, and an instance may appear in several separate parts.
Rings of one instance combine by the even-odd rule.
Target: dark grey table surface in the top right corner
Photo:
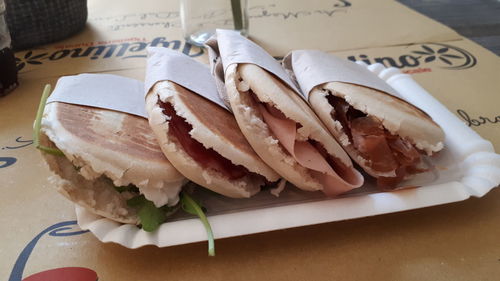
[[[500,55],[500,1],[398,1]]]

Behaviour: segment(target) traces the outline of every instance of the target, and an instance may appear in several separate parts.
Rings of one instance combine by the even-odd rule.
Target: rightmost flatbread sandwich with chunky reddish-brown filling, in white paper
[[[443,148],[439,125],[366,67],[316,50],[294,51],[284,64],[321,121],[380,188],[428,171],[426,156]]]

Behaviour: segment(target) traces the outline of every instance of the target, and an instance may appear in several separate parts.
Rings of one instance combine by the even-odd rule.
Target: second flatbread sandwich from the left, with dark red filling
[[[208,67],[165,48],[150,48],[147,77],[173,69],[170,78],[147,82],[146,110],[161,149],[174,167],[191,181],[232,198],[247,198],[279,176],[253,151],[233,115],[198,93],[212,91]],[[183,65],[182,69],[177,68]],[[182,71],[187,73],[182,74]],[[169,76],[167,75],[167,76]],[[178,82],[197,77],[198,92]],[[149,78],[148,78],[149,79]],[[151,78],[153,79],[153,78]],[[171,80],[168,80],[171,79]],[[194,88],[193,88],[194,89]],[[218,97],[217,97],[218,98]]]

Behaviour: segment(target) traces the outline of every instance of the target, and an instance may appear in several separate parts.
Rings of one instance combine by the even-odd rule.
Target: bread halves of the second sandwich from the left
[[[230,181],[215,171],[201,167],[184,151],[178,140],[168,134],[168,117],[158,101],[172,104],[177,115],[193,126],[191,136],[206,148],[214,149],[233,164],[242,165],[269,181],[278,180],[279,176],[260,160],[241,135],[228,111],[175,83],[160,81],[146,95],[149,124],[170,162],[193,182],[234,198],[250,197],[264,183],[252,175]]]

